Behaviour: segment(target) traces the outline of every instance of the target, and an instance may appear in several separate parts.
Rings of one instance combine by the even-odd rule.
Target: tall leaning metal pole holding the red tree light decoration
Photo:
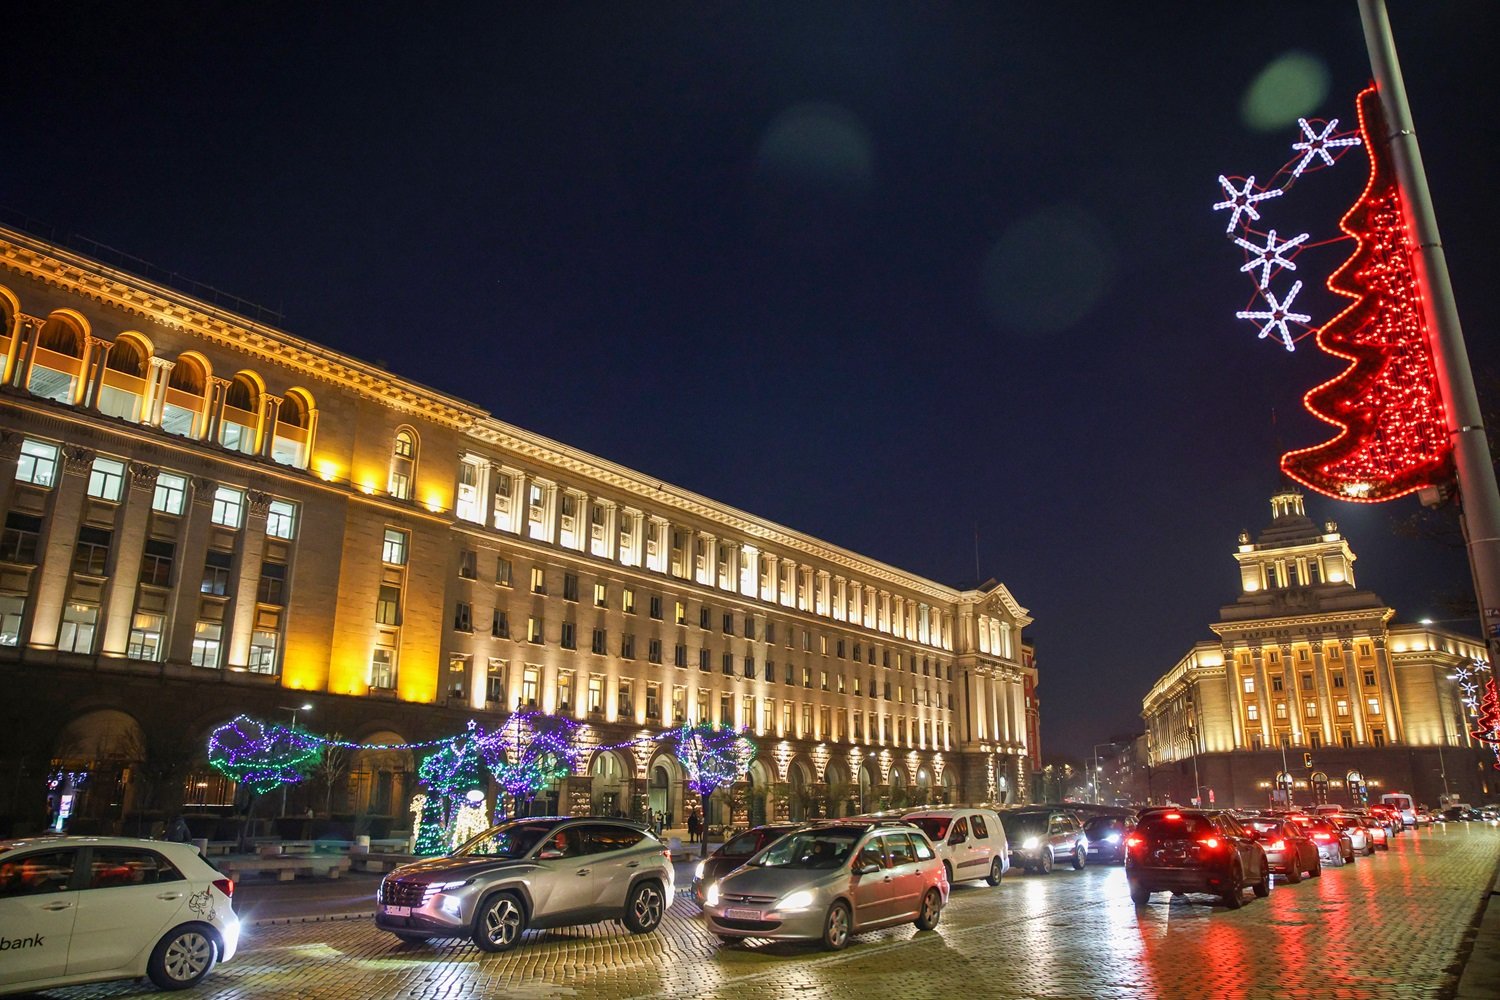
[[[1386,111],[1390,157],[1401,183],[1407,228],[1416,243],[1413,265],[1424,292],[1422,312],[1431,331],[1437,385],[1443,396],[1448,433],[1454,442],[1458,496],[1468,525],[1468,562],[1474,573],[1480,615],[1485,625],[1490,625],[1491,619],[1500,622],[1500,615],[1490,613],[1500,604],[1500,489],[1496,487],[1496,471],[1490,462],[1490,442],[1479,411],[1479,397],[1474,393],[1474,376],[1468,367],[1464,330],[1454,301],[1448,258],[1437,232],[1432,195],[1426,187],[1422,150],[1418,147],[1416,129],[1412,124],[1412,108],[1407,105],[1406,82],[1384,0],[1359,0],[1359,19],[1365,28],[1365,46],[1370,49],[1370,69]],[[1496,660],[1500,643],[1488,634],[1485,643],[1491,649],[1491,660]]]

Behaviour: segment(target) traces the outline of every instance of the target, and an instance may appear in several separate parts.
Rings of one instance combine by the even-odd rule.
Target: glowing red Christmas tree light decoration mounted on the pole
[[[1316,340],[1350,364],[1302,397],[1308,412],[1338,427],[1338,435],[1288,451],[1281,468],[1318,493],[1372,504],[1449,478],[1452,444],[1374,87],[1359,94],[1358,106],[1370,181],[1340,220],[1354,252],[1328,279],[1329,291],[1353,301]]]

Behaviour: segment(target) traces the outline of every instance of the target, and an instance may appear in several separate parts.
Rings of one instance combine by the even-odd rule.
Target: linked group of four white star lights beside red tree
[[[1338,118],[1330,118],[1329,121],[1298,118],[1298,126],[1302,129],[1302,139],[1292,144],[1292,151],[1296,156],[1276,171],[1266,187],[1256,187],[1254,177],[1246,177],[1244,183],[1239,183],[1239,178],[1230,180],[1224,174],[1220,174],[1220,187],[1224,189],[1224,199],[1214,204],[1214,211],[1227,210],[1230,213],[1224,232],[1234,240],[1234,246],[1245,252],[1245,264],[1239,271],[1240,274],[1251,276],[1256,282],[1256,294],[1264,300],[1264,309],[1242,309],[1234,315],[1239,319],[1257,321],[1260,325],[1260,339],[1280,340],[1287,351],[1296,349],[1296,337],[1292,336],[1287,324],[1308,325],[1312,322],[1312,316],[1292,312],[1292,303],[1296,300],[1298,292],[1302,291],[1300,280],[1293,282],[1292,291],[1287,292],[1286,298],[1276,298],[1276,294],[1270,289],[1270,280],[1281,271],[1298,270],[1293,258],[1306,249],[1305,244],[1311,238],[1311,234],[1304,232],[1290,240],[1282,240],[1276,235],[1275,229],[1266,232],[1252,229],[1251,222],[1260,222],[1262,213],[1256,205],[1270,198],[1280,198],[1305,171],[1332,166],[1347,148],[1362,144],[1358,132],[1347,135],[1335,133]]]

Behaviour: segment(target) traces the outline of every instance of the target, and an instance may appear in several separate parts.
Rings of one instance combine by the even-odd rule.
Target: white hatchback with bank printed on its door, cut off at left
[[[232,894],[190,844],[0,840],[0,993],[138,976],[192,987],[234,957]]]

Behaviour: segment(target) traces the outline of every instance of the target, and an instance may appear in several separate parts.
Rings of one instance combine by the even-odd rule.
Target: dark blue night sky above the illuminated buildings
[[[1476,366],[1500,4],[1390,0]],[[134,9],[130,9],[134,7]],[[423,9],[432,7],[432,9]],[[1354,0],[28,3],[0,207],[652,477],[1030,609],[1086,754],[1238,591],[1302,393],[1216,177],[1353,123]],[[1342,126],[1341,126],[1342,127]],[[1266,222],[1336,234],[1356,151]],[[46,232],[42,232],[46,235]],[[1314,321],[1341,243],[1298,258]],[[1272,411],[1276,424],[1272,424]],[[1401,619],[1456,550],[1310,498]],[[1467,625],[1464,625],[1467,628]]]

